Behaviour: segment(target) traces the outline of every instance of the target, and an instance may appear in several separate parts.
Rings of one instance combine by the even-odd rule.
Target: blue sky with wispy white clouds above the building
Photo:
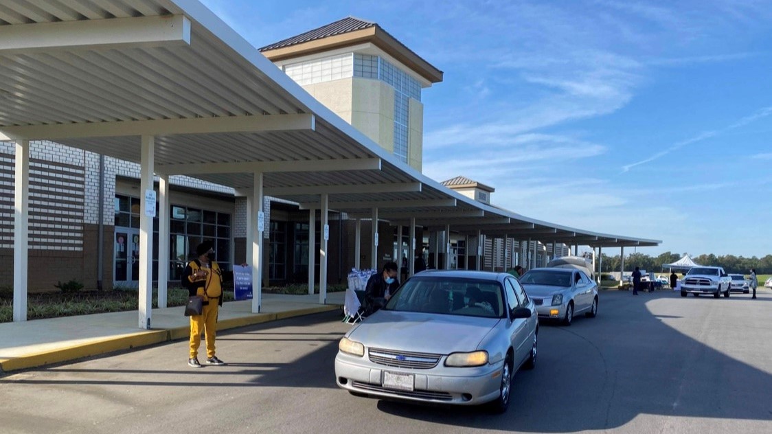
[[[661,239],[638,249],[652,256],[772,253],[772,1],[204,3],[256,47],[348,15],[378,22],[442,70],[422,94],[423,171],[438,181]]]

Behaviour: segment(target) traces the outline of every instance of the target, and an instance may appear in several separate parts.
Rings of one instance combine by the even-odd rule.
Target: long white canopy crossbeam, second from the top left
[[[260,133],[266,131],[313,131],[313,114],[197,117],[188,119],[129,120],[85,124],[50,124],[2,127],[8,137],[29,140],[61,140],[84,137],[124,137],[173,134]],[[168,171],[167,171],[168,172]]]

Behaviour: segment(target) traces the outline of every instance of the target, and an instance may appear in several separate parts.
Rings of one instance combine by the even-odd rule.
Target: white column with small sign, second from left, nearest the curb
[[[153,168],[155,164],[155,137],[142,136],[140,167],[140,280],[139,327],[150,330],[153,308],[153,215],[155,198]],[[153,209],[147,209],[150,205]],[[148,215],[150,214],[150,215]]]

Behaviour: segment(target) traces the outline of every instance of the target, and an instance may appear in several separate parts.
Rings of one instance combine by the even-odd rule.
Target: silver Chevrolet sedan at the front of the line
[[[425,271],[340,340],[335,378],[353,395],[504,412],[514,372],[536,363],[538,326],[510,274]]]

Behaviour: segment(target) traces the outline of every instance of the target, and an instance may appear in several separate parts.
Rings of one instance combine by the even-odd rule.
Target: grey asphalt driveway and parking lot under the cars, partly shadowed
[[[177,341],[0,378],[0,431],[772,432],[772,293],[601,292],[597,318],[543,324],[510,409],[427,407],[337,388],[337,313],[234,329],[227,366]]]

